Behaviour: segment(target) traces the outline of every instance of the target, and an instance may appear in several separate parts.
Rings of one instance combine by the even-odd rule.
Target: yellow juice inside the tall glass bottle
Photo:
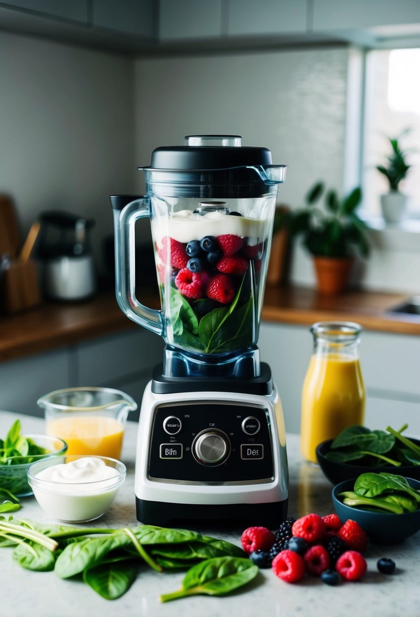
[[[302,390],[302,456],[316,463],[317,445],[347,426],[363,424],[364,414],[365,386],[358,358],[313,355]]]

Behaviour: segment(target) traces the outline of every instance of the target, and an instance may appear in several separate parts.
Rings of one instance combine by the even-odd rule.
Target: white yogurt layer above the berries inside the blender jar
[[[170,217],[154,217],[151,220],[153,239],[159,247],[164,236],[184,244],[201,240],[204,236],[217,237],[222,234],[254,238],[255,242],[262,242],[267,238],[267,224],[267,220],[259,218],[235,217],[219,211],[200,215],[191,210],[180,210]]]

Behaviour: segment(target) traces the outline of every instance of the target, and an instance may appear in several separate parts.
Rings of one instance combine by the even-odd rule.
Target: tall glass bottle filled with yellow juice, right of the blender
[[[310,331],[314,348],[302,389],[301,452],[316,463],[321,441],[363,424],[366,394],[358,354],[361,326],[320,321]]]

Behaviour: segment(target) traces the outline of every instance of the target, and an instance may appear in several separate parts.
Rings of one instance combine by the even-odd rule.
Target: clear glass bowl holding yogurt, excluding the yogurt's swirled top
[[[100,459],[107,467],[115,470],[115,475],[107,479],[84,480],[72,478],[71,481],[56,481],[38,476],[54,465],[81,459]],[[113,504],[120,487],[126,479],[124,463],[109,457],[65,455],[63,457],[33,463],[28,468],[28,483],[44,512],[64,523],[87,523],[102,516]]]

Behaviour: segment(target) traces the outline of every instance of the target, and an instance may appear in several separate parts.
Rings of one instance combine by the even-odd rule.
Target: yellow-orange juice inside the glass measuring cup
[[[67,454],[121,457],[124,426],[107,416],[68,416],[47,421],[47,434],[61,437]]]

